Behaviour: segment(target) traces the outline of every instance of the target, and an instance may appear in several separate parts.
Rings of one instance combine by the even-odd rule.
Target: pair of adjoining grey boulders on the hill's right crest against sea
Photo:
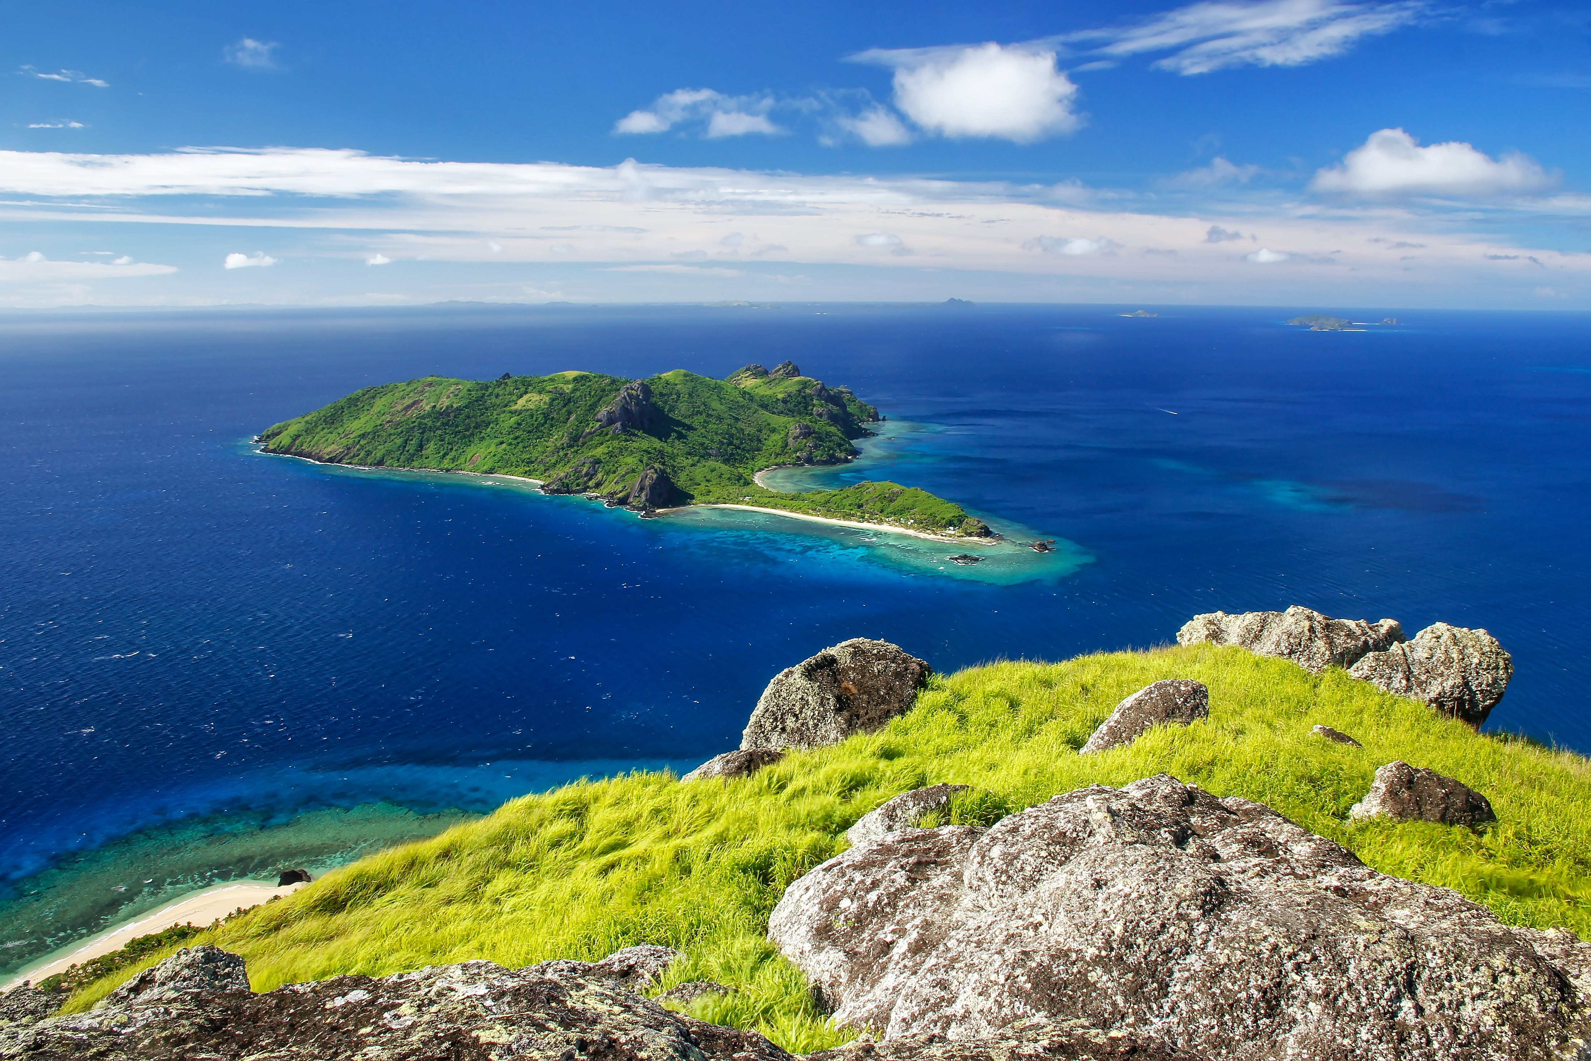
[[[1341,667],[1352,678],[1480,727],[1502,700],[1513,657],[1484,630],[1432,624],[1410,641],[1394,619],[1330,619],[1308,608],[1195,616],[1177,644],[1236,644],[1292,660],[1319,674]]]

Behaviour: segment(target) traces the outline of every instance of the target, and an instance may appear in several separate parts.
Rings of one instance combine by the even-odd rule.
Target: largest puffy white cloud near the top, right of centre
[[[853,56],[894,68],[894,102],[913,122],[943,137],[1033,143],[1076,132],[1077,86],[1055,68],[1055,51],[996,43],[872,49]]]

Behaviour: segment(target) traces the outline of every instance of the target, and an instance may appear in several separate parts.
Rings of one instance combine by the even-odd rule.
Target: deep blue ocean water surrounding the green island
[[[3,318],[0,878],[193,816],[487,810],[689,768],[851,636],[955,670],[1163,643],[1217,608],[1446,620],[1513,652],[1488,729],[1591,751],[1591,317],[1122,309]],[[894,536],[247,444],[433,372],[784,358],[893,423],[818,479],[923,487],[1063,554],[940,569]]]

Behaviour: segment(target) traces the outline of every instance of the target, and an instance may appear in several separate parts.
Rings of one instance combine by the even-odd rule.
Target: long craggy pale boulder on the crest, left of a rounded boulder
[[[1327,667],[1352,667],[1365,652],[1386,649],[1403,639],[1403,627],[1394,619],[1330,619],[1317,611],[1293,604],[1287,611],[1246,611],[1228,616],[1212,611],[1193,616],[1177,630],[1177,644],[1236,644],[1292,660],[1313,674]]]

